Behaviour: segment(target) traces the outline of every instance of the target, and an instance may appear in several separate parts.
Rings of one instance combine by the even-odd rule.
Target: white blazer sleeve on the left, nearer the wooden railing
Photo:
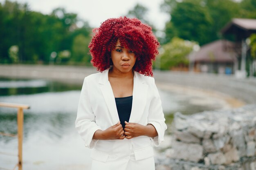
[[[95,123],[95,115],[90,104],[90,86],[88,77],[85,77],[81,95],[79,99],[77,117],[75,121],[76,129],[85,142],[85,147],[93,148],[98,140],[92,139],[96,130],[101,130]]]

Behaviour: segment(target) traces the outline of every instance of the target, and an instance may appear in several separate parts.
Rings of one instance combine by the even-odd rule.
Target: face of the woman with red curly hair
[[[131,49],[121,46],[119,40],[115,44],[115,48],[111,51],[113,62],[113,70],[121,73],[132,72],[132,67],[136,62],[135,53]]]

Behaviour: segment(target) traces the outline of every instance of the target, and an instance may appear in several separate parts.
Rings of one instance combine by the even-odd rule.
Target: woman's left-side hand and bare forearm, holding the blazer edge
[[[96,130],[92,139],[98,140],[114,140],[114,139],[124,139],[124,129],[120,123],[110,126],[106,130]]]

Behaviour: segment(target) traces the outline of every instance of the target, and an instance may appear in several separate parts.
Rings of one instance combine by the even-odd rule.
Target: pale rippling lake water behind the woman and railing
[[[84,147],[74,127],[80,90],[81,85],[44,79],[0,78],[0,102],[31,106],[24,110],[24,170],[90,169],[90,149]],[[168,125],[175,112],[193,114],[227,106],[207,95],[161,89],[159,94]],[[204,101],[208,101],[207,104]],[[16,134],[16,114],[14,108],[0,108],[0,132]],[[0,135],[0,152],[17,155],[17,146],[16,138]],[[17,159],[0,155],[0,167],[13,169]]]

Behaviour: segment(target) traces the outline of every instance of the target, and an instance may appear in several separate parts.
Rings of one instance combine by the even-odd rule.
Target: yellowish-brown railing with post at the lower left
[[[18,137],[18,163],[15,165],[13,170],[15,170],[17,166],[18,166],[18,170],[22,170],[22,140],[23,140],[23,119],[24,119],[23,109],[29,109],[29,106],[24,105],[24,104],[11,104],[11,103],[0,102],[0,107],[9,107],[9,108],[17,108],[18,109],[18,111],[17,111],[17,124],[18,124],[17,134],[7,134],[7,133],[0,132],[0,135],[9,136],[9,137]],[[12,155],[9,153],[2,153],[2,152],[0,152],[0,154]],[[9,170],[7,168],[2,168],[2,167],[0,167],[0,169]]]

